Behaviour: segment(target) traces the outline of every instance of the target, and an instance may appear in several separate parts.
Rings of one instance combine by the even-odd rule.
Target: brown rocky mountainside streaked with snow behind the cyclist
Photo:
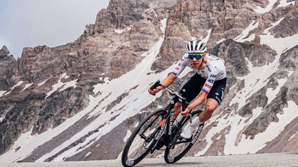
[[[191,38],[226,60],[228,85],[188,155],[297,151],[297,20],[297,0],[110,0],[74,43],[24,48],[19,60],[3,46],[0,159],[117,159],[137,122],[169,102],[147,87]]]

